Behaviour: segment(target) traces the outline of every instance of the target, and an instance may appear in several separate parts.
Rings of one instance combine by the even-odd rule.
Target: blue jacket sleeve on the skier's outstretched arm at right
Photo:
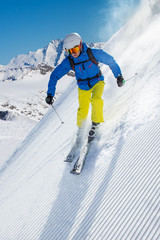
[[[104,63],[109,66],[115,78],[122,74],[119,65],[116,63],[115,59],[111,55],[109,55],[102,49],[92,49],[92,52],[98,62]]]

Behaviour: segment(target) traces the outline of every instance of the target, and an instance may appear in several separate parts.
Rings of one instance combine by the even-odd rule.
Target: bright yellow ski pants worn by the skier
[[[91,103],[91,120],[95,123],[103,122],[103,99],[104,81],[99,81],[90,90],[78,88],[79,108],[77,111],[77,126],[82,127],[85,122]]]

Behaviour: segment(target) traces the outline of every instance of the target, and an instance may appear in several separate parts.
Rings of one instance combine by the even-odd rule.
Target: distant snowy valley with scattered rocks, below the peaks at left
[[[0,166],[35,127],[48,111],[45,103],[50,73],[42,76],[26,76],[17,81],[0,82],[0,114],[8,112],[6,121],[0,118]],[[73,81],[66,76],[57,86],[55,98],[58,99]]]

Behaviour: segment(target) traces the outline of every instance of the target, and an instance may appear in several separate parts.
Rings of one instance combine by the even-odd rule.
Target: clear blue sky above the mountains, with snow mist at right
[[[78,32],[85,42],[105,42],[140,0],[1,0],[0,64]]]

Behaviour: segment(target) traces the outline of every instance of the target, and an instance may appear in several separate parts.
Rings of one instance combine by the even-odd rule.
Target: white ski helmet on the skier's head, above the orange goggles
[[[82,41],[81,36],[78,33],[70,33],[65,36],[63,40],[64,48],[70,49],[80,44]]]

